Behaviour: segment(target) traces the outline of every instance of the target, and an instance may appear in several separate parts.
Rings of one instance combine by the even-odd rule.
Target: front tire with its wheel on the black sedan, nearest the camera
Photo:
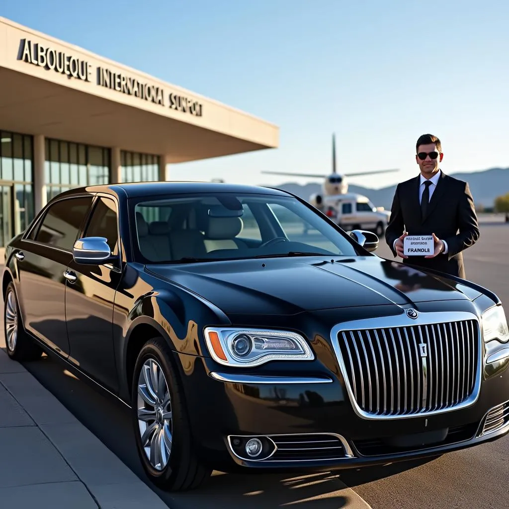
[[[151,395],[154,393],[154,384],[149,392],[142,373],[142,369],[145,371],[154,366],[157,373],[162,373],[164,377],[161,382],[165,383],[160,384],[164,397],[162,390],[157,394],[159,402],[164,400],[163,405],[156,403],[156,399]],[[144,390],[138,391],[139,387]],[[144,393],[143,399],[141,393]],[[131,407],[136,449],[151,481],[166,491],[186,491],[200,487],[210,477],[212,469],[204,465],[196,455],[182,385],[173,369],[172,353],[162,337],[149,340],[138,354],[132,379]],[[145,421],[138,420],[139,410],[144,410]],[[167,413],[164,414],[163,411]],[[150,428],[152,431],[147,432]],[[144,433],[147,434],[147,452],[142,445]],[[161,437],[158,447],[154,441],[156,435]],[[169,435],[171,441],[168,441]],[[154,442],[152,447],[151,442]]]

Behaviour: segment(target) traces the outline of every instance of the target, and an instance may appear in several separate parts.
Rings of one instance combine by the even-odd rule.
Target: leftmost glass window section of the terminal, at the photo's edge
[[[33,137],[0,130],[0,246],[34,218]]]

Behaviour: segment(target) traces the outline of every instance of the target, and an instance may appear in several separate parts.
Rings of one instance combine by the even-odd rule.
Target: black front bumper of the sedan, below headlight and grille
[[[340,374],[232,375],[194,358],[185,383],[193,436],[203,458],[223,472],[329,471],[434,457],[509,432],[506,370],[486,379],[468,407],[398,419],[364,419]],[[212,371],[214,369],[214,371]],[[188,380],[190,382],[190,380]],[[264,454],[249,458],[259,439]],[[267,448],[267,445],[269,448]]]

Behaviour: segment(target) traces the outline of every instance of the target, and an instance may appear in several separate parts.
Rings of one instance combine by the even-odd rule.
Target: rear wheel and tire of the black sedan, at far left
[[[4,298],[4,337],[7,355],[11,359],[23,362],[41,357],[42,348],[23,328],[16,290],[12,281],[7,286]]]

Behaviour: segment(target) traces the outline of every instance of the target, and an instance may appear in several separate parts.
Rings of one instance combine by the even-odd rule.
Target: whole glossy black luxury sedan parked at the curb
[[[129,406],[167,490],[329,471],[509,431],[501,303],[384,260],[281,190],[152,182],[56,196],[6,248],[12,359],[43,351]]]

